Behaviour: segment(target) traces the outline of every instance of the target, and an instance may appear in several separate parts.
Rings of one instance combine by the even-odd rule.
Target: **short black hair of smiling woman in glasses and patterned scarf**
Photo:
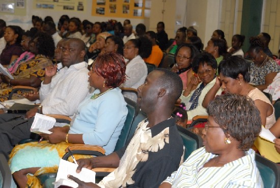
[[[198,73],[199,65],[207,64],[208,66],[212,67],[213,69],[217,69],[217,61],[211,53],[202,52],[195,56],[192,60],[192,70],[195,73]]]

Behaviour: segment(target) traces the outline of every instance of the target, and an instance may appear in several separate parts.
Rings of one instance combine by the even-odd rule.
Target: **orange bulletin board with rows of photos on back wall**
[[[92,16],[144,18],[145,0],[93,0]]]

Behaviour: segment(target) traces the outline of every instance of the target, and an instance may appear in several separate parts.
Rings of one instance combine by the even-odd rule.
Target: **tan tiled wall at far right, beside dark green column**
[[[269,49],[273,54],[278,54],[280,44],[280,1],[264,0],[263,31],[271,37]]]

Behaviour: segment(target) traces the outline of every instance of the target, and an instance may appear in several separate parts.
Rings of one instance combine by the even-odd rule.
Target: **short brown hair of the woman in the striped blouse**
[[[261,131],[260,112],[247,96],[231,93],[216,96],[207,106],[207,113],[225,134],[240,142],[239,150],[253,146]]]

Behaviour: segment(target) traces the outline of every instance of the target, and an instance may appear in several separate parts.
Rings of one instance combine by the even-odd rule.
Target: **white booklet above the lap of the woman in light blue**
[[[30,131],[37,134],[50,134],[49,129],[53,127],[55,122],[55,118],[36,113]]]

